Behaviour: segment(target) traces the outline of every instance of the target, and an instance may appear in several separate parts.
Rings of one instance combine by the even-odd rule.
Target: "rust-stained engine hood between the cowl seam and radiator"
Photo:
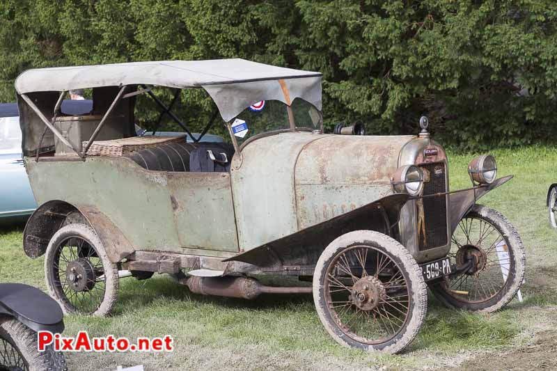
[[[299,229],[393,194],[390,177],[413,138],[323,135],[308,143],[295,171]]]

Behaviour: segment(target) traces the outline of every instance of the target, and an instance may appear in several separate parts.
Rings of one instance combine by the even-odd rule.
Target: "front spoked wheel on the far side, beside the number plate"
[[[524,280],[521,239],[503,215],[474,205],[453,233],[448,257],[464,273],[432,285],[448,306],[490,313],[505,306]]]

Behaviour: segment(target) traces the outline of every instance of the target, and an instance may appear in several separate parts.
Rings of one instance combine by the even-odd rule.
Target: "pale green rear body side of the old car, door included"
[[[127,157],[26,166],[38,203],[94,206],[136,251],[238,251],[228,174],[148,171]]]

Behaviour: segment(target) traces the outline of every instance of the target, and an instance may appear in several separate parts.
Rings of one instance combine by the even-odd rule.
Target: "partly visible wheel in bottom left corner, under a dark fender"
[[[52,345],[38,352],[37,333],[16,319],[0,317],[0,370],[67,370],[63,354]]]

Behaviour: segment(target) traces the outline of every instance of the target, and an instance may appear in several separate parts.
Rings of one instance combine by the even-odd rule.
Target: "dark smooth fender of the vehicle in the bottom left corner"
[[[0,283],[0,314],[14,317],[34,331],[64,330],[58,303],[38,288],[22,283]]]

